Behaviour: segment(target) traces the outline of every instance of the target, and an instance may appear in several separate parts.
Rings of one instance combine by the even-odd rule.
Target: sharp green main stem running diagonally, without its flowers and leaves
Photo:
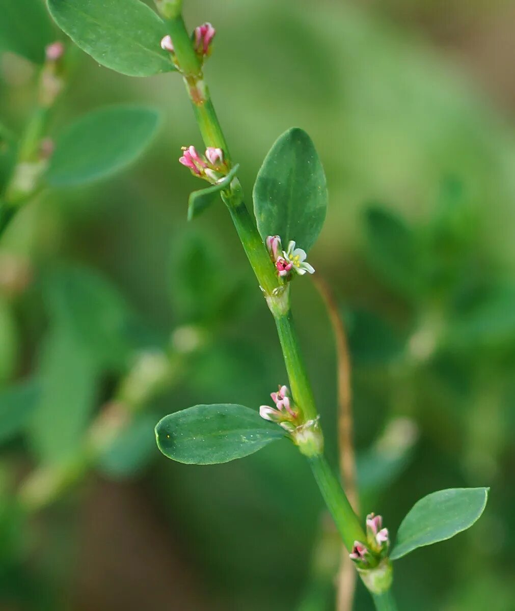
[[[204,144],[208,147],[221,148],[229,158],[228,145],[210,99],[209,89],[204,82],[201,61],[195,53],[195,49],[193,49],[182,15],[169,19],[168,26],[174,45],[176,62],[179,65],[188,95],[193,104]],[[245,203],[243,203],[243,192],[237,179],[233,181],[230,191],[222,193],[222,199],[229,209],[243,248],[275,318],[292,397],[299,408],[302,422],[316,420],[317,409],[313,390],[302,358],[291,314],[289,285],[284,284],[283,280],[278,278],[276,274],[256,223],[248,212]],[[320,453],[320,449],[317,449],[314,455],[308,455],[308,460],[325,503],[332,513],[344,544],[350,551],[355,540],[366,541],[365,532],[338,480],[328,466],[323,453]],[[386,599],[380,596],[378,600]],[[384,607],[384,609],[386,610],[387,607]]]

